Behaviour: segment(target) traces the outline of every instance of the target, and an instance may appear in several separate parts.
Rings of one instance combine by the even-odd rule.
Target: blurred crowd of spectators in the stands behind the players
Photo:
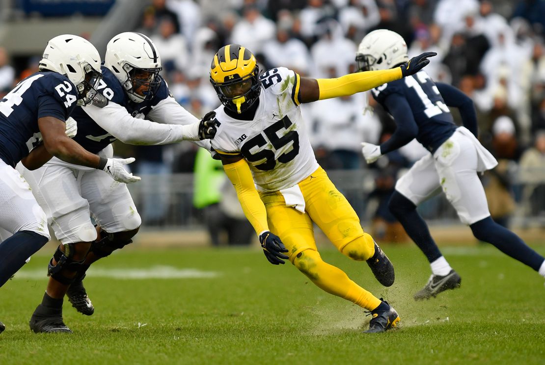
[[[215,9],[192,0],[150,0],[142,9],[140,25],[126,30],[147,34],[155,42],[174,98],[201,117],[220,105],[208,79],[211,59],[225,44],[249,48],[263,71],[285,66],[301,76],[337,77],[355,71],[359,42],[380,28],[401,34],[409,57],[437,52],[426,68],[428,74],[474,100],[481,142],[500,161],[483,177],[493,217],[508,224],[516,200],[527,200],[529,214],[545,217],[543,0],[226,0],[217,2]],[[0,47],[0,93],[32,73],[36,67],[32,62],[37,59],[16,73],[9,54]],[[320,165],[328,171],[372,169],[375,184],[368,198],[377,202],[373,216],[395,224],[385,202],[398,174],[427,151],[413,141],[367,167],[360,142],[378,144],[395,130],[393,120],[368,93],[301,109]],[[456,111],[453,115],[461,125]],[[196,169],[197,148],[191,143],[118,144],[116,151],[135,156],[140,174]],[[168,180],[148,182],[150,189],[161,184]],[[361,213],[362,198],[347,195]],[[158,197],[148,199],[147,205],[160,208]],[[152,209],[148,216],[143,213],[144,221],[157,224],[164,216],[164,208]]]

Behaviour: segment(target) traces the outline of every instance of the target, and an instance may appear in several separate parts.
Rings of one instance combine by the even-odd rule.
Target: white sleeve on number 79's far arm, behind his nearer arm
[[[152,107],[152,110],[148,113],[148,118],[156,121],[157,123],[168,124],[195,124],[201,121],[195,117],[195,115],[186,111],[184,107],[178,104],[174,98],[166,98]],[[212,149],[209,139],[203,139],[203,141],[191,141],[199,147],[205,148],[208,151]]]

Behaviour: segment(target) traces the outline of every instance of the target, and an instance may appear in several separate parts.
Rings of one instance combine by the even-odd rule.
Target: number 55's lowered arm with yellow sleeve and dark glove
[[[283,264],[284,259],[288,259],[288,252],[280,238],[269,231],[267,223],[267,210],[263,204],[259,193],[253,184],[252,173],[248,163],[241,156],[221,155],[223,169],[229,180],[237,191],[237,197],[244,211],[247,220],[256,230],[259,236],[259,242],[263,247],[263,252],[267,260],[273,265]]]

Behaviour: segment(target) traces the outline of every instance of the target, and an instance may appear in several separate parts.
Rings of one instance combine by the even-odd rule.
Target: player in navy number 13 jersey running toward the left
[[[386,29],[367,34],[356,54],[360,71],[395,68],[408,59],[403,38]],[[389,203],[392,213],[431,264],[432,276],[415,294],[415,300],[435,297],[447,289],[458,288],[461,283],[460,276],[443,257],[416,211],[417,205],[441,190],[477,239],[489,242],[545,276],[543,257],[490,217],[477,172],[491,169],[497,162],[477,140],[473,101],[455,87],[435,83],[426,71],[385,83],[373,89],[372,94],[392,115],[397,129],[381,145],[362,143],[367,163],[373,163],[413,138],[429,150],[428,155],[397,181]],[[458,108],[463,126],[454,124],[447,106]]]

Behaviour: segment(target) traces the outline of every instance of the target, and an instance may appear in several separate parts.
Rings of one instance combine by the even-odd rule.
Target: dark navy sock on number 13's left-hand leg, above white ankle
[[[433,261],[443,256],[431,234],[429,234],[426,222],[416,211],[416,205],[413,202],[396,190],[390,198],[388,207],[405,228],[405,232],[407,232],[411,240],[426,255],[429,263],[433,263]]]

